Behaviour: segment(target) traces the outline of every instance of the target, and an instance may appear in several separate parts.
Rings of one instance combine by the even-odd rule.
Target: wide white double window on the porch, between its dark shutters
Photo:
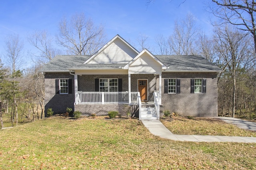
[[[101,78],[100,92],[118,92],[118,78]]]

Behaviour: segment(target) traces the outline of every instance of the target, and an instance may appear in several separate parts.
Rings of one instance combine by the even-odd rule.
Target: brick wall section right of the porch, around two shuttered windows
[[[165,78],[180,78],[180,94],[165,94],[162,88],[162,105],[164,110],[176,112],[178,115],[211,117],[217,116],[218,93],[217,74],[200,72],[164,72]],[[191,78],[206,78],[206,93],[190,93]]]

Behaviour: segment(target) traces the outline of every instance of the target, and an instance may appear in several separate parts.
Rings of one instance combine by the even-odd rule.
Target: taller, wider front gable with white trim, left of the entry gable
[[[116,35],[84,64],[128,63],[138,55],[138,51],[122,37]]]

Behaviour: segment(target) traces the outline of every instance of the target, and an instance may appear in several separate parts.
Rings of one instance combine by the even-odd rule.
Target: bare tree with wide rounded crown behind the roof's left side
[[[102,25],[94,25],[83,13],[59,23],[58,43],[74,55],[92,55],[106,43]]]

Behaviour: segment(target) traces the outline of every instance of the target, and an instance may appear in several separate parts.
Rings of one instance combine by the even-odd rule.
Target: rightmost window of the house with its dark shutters
[[[206,93],[206,79],[197,78],[190,80],[191,93]]]

